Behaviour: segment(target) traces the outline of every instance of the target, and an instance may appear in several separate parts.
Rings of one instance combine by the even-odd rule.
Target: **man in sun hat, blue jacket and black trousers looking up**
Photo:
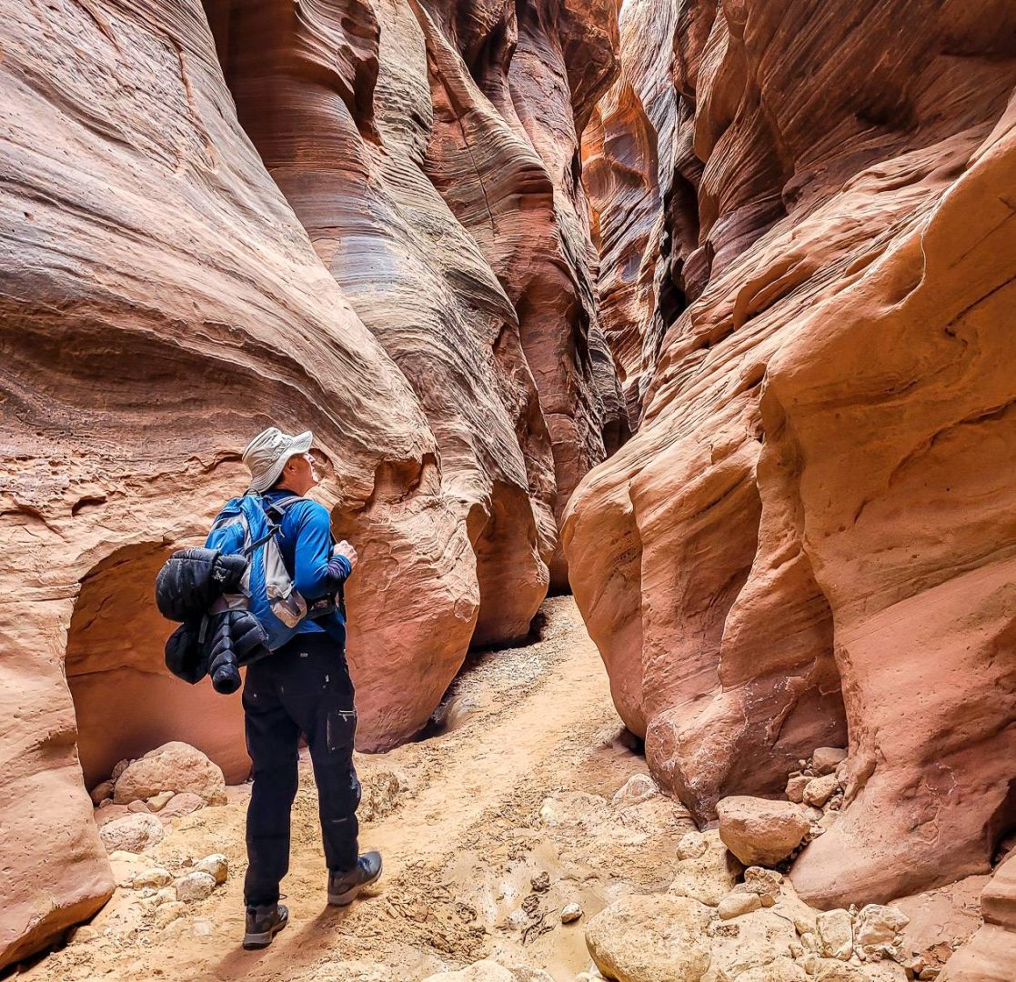
[[[380,853],[360,855],[357,841],[357,712],[345,662],[341,601],[357,551],[346,541],[333,545],[327,510],[304,498],[320,481],[310,453],[312,441],[309,432],[292,437],[272,427],[243,452],[251,482],[241,502],[248,508],[252,500],[258,502],[277,521],[275,541],[307,610],[293,620],[290,640],[247,666],[243,706],[254,781],[247,808],[247,948],[270,944],[289,920],[288,909],[278,903],[278,888],[290,866],[290,812],[297,793],[301,733],[318,788],[328,903],[352,903],[381,875]],[[234,528],[216,522],[206,546],[226,551],[224,542]]]

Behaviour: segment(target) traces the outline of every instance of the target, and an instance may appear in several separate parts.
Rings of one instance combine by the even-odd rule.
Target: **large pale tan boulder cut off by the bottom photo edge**
[[[709,968],[707,907],[688,897],[625,897],[586,925],[599,971],[619,982],[700,982]]]

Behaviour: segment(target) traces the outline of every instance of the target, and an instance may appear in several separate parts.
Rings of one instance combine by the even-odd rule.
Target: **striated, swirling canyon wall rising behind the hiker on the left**
[[[246,776],[152,581],[253,434],[329,458],[376,748],[527,632],[627,423],[577,156],[610,4],[0,7],[3,966],[112,891],[85,783],[168,739]]]

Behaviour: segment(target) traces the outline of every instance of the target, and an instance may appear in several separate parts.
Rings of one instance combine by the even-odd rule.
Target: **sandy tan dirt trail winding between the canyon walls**
[[[632,890],[658,890],[690,824],[659,795],[612,802],[644,763],[631,749],[608,679],[571,598],[545,605],[539,642],[479,656],[444,707],[448,729],[359,757],[361,841],[384,854],[376,892],[345,910],[324,903],[316,792],[302,765],[293,856],[282,890],[291,925],[244,952],[242,878],[249,787],[174,820],[145,853],[174,873],[223,852],[231,876],[163,925],[153,898],[118,889],[91,928],[39,963],[33,980],[417,980],[485,957],[572,980],[589,964],[583,921]],[[549,874],[547,889],[533,877]]]

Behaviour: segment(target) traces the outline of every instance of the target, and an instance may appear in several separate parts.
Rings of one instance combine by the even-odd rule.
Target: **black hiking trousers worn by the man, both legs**
[[[301,733],[314,765],[325,862],[338,872],[357,865],[360,782],[353,766],[353,698],[345,655],[326,634],[298,635],[248,666],[243,701],[254,786],[247,808],[247,906],[276,902],[290,868]]]

